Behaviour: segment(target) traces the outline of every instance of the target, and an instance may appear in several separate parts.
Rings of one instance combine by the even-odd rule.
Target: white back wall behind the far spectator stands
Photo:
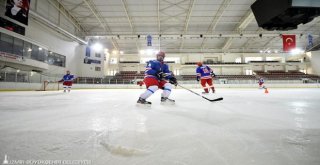
[[[181,64],[169,64],[170,70],[175,71],[179,70],[180,75],[193,75],[195,73],[195,65],[183,65],[186,62],[199,62],[206,59],[218,59],[218,61],[224,62],[235,62],[237,58],[245,58],[245,57],[261,57],[262,59],[266,59],[266,57],[274,57],[282,59],[284,54],[261,54],[261,53],[189,53],[189,54],[176,54],[176,53],[167,53],[166,57],[170,58],[180,58]],[[154,56],[141,56],[138,54],[132,55],[110,55],[110,57],[117,57],[122,61],[140,61],[140,58],[149,57],[151,59],[155,59]],[[109,59],[109,58],[108,58]],[[107,59],[107,60],[108,60]],[[288,65],[288,64],[287,64]],[[244,65],[209,65],[213,68],[216,74],[245,74],[245,70],[298,70],[300,68],[305,68],[306,64],[303,63],[292,63],[286,67],[284,63],[252,63],[252,64],[244,64]],[[118,70],[118,71],[144,71],[145,64],[117,64],[111,65],[107,68],[108,70]]]

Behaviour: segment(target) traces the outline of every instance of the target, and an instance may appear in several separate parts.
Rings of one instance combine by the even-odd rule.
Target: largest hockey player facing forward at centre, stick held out
[[[142,93],[137,101],[139,104],[151,104],[146,101],[153,93],[158,89],[162,89],[161,103],[171,103],[175,101],[169,99],[172,85],[177,85],[177,79],[171,74],[169,67],[164,63],[165,53],[160,51],[157,54],[156,60],[150,60],[147,62],[144,83],[147,90]],[[166,81],[169,80],[169,83]]]

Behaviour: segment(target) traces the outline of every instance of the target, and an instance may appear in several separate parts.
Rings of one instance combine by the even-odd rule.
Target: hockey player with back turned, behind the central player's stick
[[[203,94],[209,93],[209,89],[212,89],[212,93],[215,92],[214,86],[213,86],[213,80],[212,78],[215,77],[216,75],[213,73],[213,70],[207,66],[203,65],[202,62],[197,63],[198,67],[196,69],[197,73],[197,81],[201,83],[202,87],[204,88]],[[209,87],[206,86],[206,84],[209,85]]]

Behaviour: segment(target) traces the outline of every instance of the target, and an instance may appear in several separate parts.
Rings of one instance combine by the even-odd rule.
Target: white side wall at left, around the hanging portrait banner
[[[4,2],[4,1],[1,1]],[[56,3],[55,1],[50,1],[50,3]],[[62,14],[58,12],[58,10],[50,5],[49,1],[42,0],[31,0],[30,10],[37,12],[42,17],[50,20],[52,23],[57,24],[63,29],[74,33],[75,27],[72,25],[70,21],[68,21]],[[37,4],[37,5],[36,5]],[[1,11],[4,9],[4,3],[1,4]],[[3,16],[4,12],[1,12],[1,16]],[[5,16],[4,16],[5,17]],[[8,17],[6,19],[11,20]],[[14,20],[11,20],[16,22]],[[18,23],[20,24],[20,23]],[[21,24],[20,24],[21,25]],[[75,55],[75,48],[79,45],[77,42],[59,34],[58,32],[50,29],[49,27],[37,22],[31,14],[29,14],[28,26],[22,25],[25,27],[25,36],[21,36],[18,34],[13,34],[12,32],[4,32],[6,34],[15,36],[17,38],[21,38],[23,40],[27,40],[34,44],[39,45],[49,51],[53,51],[55,53],[66,56],[66,68],[57,68],[55,70],[47,70],[49,73],[65,73],[65,70],[70,70],[71,72],[77,72],[78,67],[75,62],[77,57]],[[49,68],[50,69],[50,68]]]

